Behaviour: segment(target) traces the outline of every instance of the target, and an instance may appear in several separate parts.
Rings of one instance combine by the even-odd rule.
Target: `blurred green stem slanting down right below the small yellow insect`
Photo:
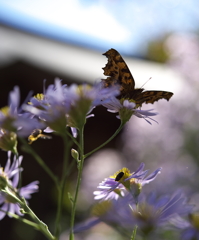
[[[22,149],[24,152],[29,153],[34,157],[34,159],[37,161],[37,163],[44,169],[44,171],[50,176],[50,178],[54,181],[56,186],[59,186],[59,182],[57,177],[54,175],[54,173],[50,170],[50,168],[45,164],[45,162],[42,160],[42,158],[33,150],[33,148],[26,142],[25,139],[20,138],[21,142],[23,143]]]

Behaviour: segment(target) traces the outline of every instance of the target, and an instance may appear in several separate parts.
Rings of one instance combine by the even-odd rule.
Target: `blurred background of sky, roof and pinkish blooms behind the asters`
[[[63,82],[93,84],[104,78],[102,56],[115,48],[129,66],[136,87],[174,93],[143,109],[159,115],[149,125],[132,117],[123,131],[106,147],[86,159],[76,222],[89,217],[93,191],[99,182],[122,167],[135,171],[141,162],[154,171],[163,167],[158,180],[144,188],[158,194],[184,189],[190,201],[198,192],[198,90],[199,11],[197,0],[0,0],[0,107],[8,94],[20,87],[21,102],[29,91],[43,91],[55,77]],[[85,151],[107,140],[120,122],[103,107],[94,110],[85,129]],[[103,131],[102,131],[103,130]],[[63,143],[57,136],[39,139],[32,147],[56,174],[61,173]],[[19,150],[20,151],[20,150]],[[57,192],[52,181],[28,154],[22,166],[23,184],[40,181],[40,191],[29,201],[35,213],[53,231]],[[0,152],[4,166],[7,153]],[[72,161],[72,160],[71,160]],[[77,172],[66,186],[63,229],[68,228],[70,203]],[[9,231],[8,231],[9,230]],[[44,239],[34,229],[5,217],[0,221],[1,239]],[[62,240],[67,239],[67,231]],[[124,239],[112,228],[99,224],[76,239]]]

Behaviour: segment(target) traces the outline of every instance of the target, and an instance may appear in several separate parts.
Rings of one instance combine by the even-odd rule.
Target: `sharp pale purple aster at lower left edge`
[[[31,194],[38,191],[39,182],[34,181],[24,187],[21,187],[20,189],[17,189],[19,183],[19,173],[22,171],[22,168],[20,167],[22,158],[22,156],[19,156],[19,158],[16,158],[16,156],[14,156],[11,163],[11,152],[8,152],[8,160],[6,162],[4,170],[2,167],[0,167],[0,177],[1,182],[2,179],[4,179],[5,182],[7,182],[7,184],[10,185],[12,189],[14,189],[15,193],[17,193],[20,197],[30,199]],[[3,187],[1,189],[3,189]],[[20,206],[16,200],[7,194],[6,191],[0,191],[0,205],[0,220],[5,217],[6,212],[23,215],[20,212]],[[11,217],[10,215],[8,216]]]

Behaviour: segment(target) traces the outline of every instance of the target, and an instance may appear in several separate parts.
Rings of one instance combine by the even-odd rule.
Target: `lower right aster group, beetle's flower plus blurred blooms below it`
[[[157,197],[155,192],[144,194],[142,187],[155,180],[161,171],[158,168],[146,177],[148,170],[143,171],[144,166],[142,163],[134,173],[123,168],[100,183],[100,190],[94,191],[94,199],[101,200],[93,207],[94,217],[77,225],[76,232],[105,222],[129,234],[138,227],[141,234],[149,236],[165,226],[171,227],[171,222],[192,212],[193,207],[179,191],[173,196]]]

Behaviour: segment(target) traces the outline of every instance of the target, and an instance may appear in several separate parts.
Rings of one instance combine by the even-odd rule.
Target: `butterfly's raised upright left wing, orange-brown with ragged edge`
[[[105,87],[119,84],[121,85],[121,93],[125,92],[126,89],[133,91],[135,81],[121,55],[113,48],[109,49],[103,55],[108,58],[108,63],[102,68],[104,75],[108,76],[106,79],[102,79]]]

